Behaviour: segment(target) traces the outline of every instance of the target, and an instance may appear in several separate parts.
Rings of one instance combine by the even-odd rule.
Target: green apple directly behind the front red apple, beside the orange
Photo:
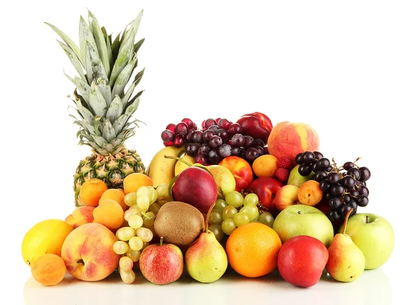
[[[273,230],[279,234],[282,243],[297,235],[308,235],[329,247],[334,238],[330,219],[321,210],[302,204],[288,206],[279,212]]]

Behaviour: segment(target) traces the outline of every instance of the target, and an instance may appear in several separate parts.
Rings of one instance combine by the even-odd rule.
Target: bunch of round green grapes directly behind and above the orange
[[[272,228],[274,217],[270,212],[260,213],[257,207],[258,202],[258,196],[254,193],[244,197],[239,191],[230,191],[225,199],[217,199],[209,215],[208,229],[220,241],[224,234],[231,235],[235,228],[250,222],[261,222]]]

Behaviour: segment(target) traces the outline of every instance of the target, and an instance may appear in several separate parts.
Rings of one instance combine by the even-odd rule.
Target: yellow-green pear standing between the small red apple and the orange
[[[224,247],[210,230],[202,232],[185,254],[187,273],[201,283],[217,281],[228,267]]]

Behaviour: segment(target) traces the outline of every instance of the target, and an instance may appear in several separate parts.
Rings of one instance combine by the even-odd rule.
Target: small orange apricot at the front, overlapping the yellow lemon
[[[61,256],[46,253],[32,263],[31,273],[33,279],[45,286],[53,286],[60,283],[67,272],[64,260]]]

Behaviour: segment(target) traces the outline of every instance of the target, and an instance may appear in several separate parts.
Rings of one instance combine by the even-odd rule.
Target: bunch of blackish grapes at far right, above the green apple
[[[355,162],[357,162],[355,160]],[[355,162],[346,162],[339,167],[332,160],[323,157],[317,151],[305,151],[296,156],[297,169],[300,175],[312,175],[312,179],[319,182],[323,191],[323,198],[330,206],[327,217],[330,221],[339,221],[353,208],[352,215],[358,207],[365,207],[369,203],[369,189],[366,181],[370,178],[370,170],[359,167]]]

